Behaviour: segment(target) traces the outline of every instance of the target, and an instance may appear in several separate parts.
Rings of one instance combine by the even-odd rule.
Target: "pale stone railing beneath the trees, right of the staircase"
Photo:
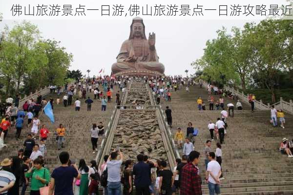
[[[206,82],[203,82],[203,87],[208,88],[208,84]],[[227,91],[232,92],[235,96],[238,97],[239,100],[241,100],[242,102],[250,105],[250,103],[248,101],[248,94],[245,95],[243,92],[240,92],[239,90],[235,90],[235,89],[233,89],[231,87],[227,87],[227,86],[225,86],[224,89],[227,90]],[[254,108],[256,108],[256,109],[269,110],[269,109],[271,109],[271,106],[272,105],[270,105],[269,103],[268,104],[264,104],[262,102],[262,100],[259,100],[259,101],[255,100],[254,101]],[[277,102],[277,103],[275,103],[275,104],[273,104],[273,106],[276,109],[282,109],[285,112],[288,112],[290,114],[293,114],[293,102],[292,102],[292,100],[290,100],[289,102],[286,102],[281,97],[280,98],[280,101]]]

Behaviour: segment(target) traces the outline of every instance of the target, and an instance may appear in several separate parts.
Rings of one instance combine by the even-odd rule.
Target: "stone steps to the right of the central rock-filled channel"
[[[199,169],[204,177],[205,143],[210,139],[207,128],[209,121],[216,122],[221,110],[197,109],[196,100],[201,96],[207,102],[208,92],[199,86],[192,86],[189,92],[184,89],[172,91],[171,102],[161,101],[165,109],[172,109],[172,132],[180,127],[186,133],[188,122],[199,129],[195,137],[195,150],[201,153]],[[214,96],[218,99],[219,96]],[[225,99],[227,104],[235,100]],[[222,145],[222,169],[224,180],[221,181],[222,195],[293,195],[293,159],[281,155],[278,151],[284,137],[293,139],[293,116],[285,113],[285,129],[273,128],[270,124],[270,110],[250,111],[250,105],[242,103],[244,110],[234,110],[234,117],[228,118],[225,144]],[[206,106],[209,109],[208,104]],[[216,142],[211,149],[215,151]],[[209,189],[203,183],[203,194]]]

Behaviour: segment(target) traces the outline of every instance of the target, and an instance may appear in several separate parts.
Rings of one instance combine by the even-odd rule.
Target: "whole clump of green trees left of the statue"
[[[72,54],[55,40],[41,40],[30,22],[6,26],[0,37],[0,79],[7,94],[29,94],[49,84],[64,84]]]

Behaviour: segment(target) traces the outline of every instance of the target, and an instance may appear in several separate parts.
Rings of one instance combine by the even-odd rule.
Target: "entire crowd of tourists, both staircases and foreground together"
[[[125,91],[128,78],[115,79],[111,77],[100,77],[77,81],[75,84],[64,87],[64,95],[62,98],[63,106],[74,105],[76,111],[81,109],[81,100],[86,104],[87,111],[91,111],[94,101],[101,102],[102,111],[106,110],[108,102],[112,101],[113,87],[118,85],[119,91],[116,93],[116,104],[121,105],[120,92]],[[153,94],[160,104],[162,99],[166,102],[171,101],[171,92],[177,90],[189,91],[191,85],[195,85],[194,80],[183,78],[182,76],[167,76],[159,79],[149,79],[145,77],[145,82],[151,87]],[[200,87],[203,83],[199,82]],[[55,91],[57,90],[57,91]],[[19,100],[16,97],[6,99],[5,109],[2,113],[5,118],[0,124],[0,146],[4,144],[7,132],[16,129],[16,139],[21,137],[21,130],[24,129],[24,119],[27,118],[27,127],[30,133],[23,143],[17,156],[5,158],[1,162],[0,170],[0,195],[24,195],[30,182],[30,194],[41,195],[47,192],[48,195],[99,195],[99,187],[103,188],[104,195],[130,195],[135,188],[137,195],[202,195],[202,184],[206,182],[209,187],[209,194],[220,194],[220,183],[223,177],[222,173],[222,144],[225,144],[224,137],[227,133],[227,118],[234,116],[234,105],[227,104],[228,112],[225,110],[224,97],[234,99],[235,97],[229,91],[221,91],[218,87],[209,85],[209,109],[222,109],[221,116],[216,122],[212,121],[208,124],[210,140],[206,141],[203,149],[205,157],[205,180],[201,179],[199,170],[200,152],[194,150],[194,143],[198,130],[193,128],[191,122],[188,123],[187,134],[184,135],[181,128],[177,129],[174,140],[177,146],[182,149],[183,155],[181,159],[176,159],[176,167],[169,170],[166,160],[152,161],[144,154],[137,155],[137,161],[134,162],[125,159],[123,153],[117,149],[109,155],[104,156],[104,163],[99,167],[95,160],[86,164],[84,159],[75,162],[70,159],[68,152],[60,152],[59,160],[61,166],[54,169],[50,173],[46,168],[46,140],[49,134],[56,135],[58,150],[64,148],[66,128],[62,124],[56,128],[56,131],[50,132],[40,121],[40,112],[46,105],[46,99],[39,95],[36,100],[29,100],[22,108],[19,107]],[[50,86],[50,92],[57,92],[57,99],[49,98],[52,108],[54,104],[60,104],[61,87]],[[93,93],[94,98],[91,99],[88,94]],[[219,100],[215,101],[212,94],[222,94]],[[73,99],[75,101],[73,103]],[[251,111],[254,109],[253,102],[255,96],[250,95]],[[205,110],[205,103],[199,97],[197,99],[198,109]],[[14,104],[13,104],[14,103]],[[1,107],[2,108],[2,107]],[[241,102],[236,103],[238,110],[243,109]],[[172,127],[172,111],[169,107],[165,110],[167,116],[167,124]],[[274,126],[277,126],[277,117],[284,128],[285,119],[282,110],[275,110],[272,107],[271,119]],[[275,125],[276,124],[276,125]],[[91,144],[93,153],[98,151],[98,137],[103,135],[105,128],[103,123],[99,125],[93,124],[90,129]],[[7,139],[7,138],[6,138]],[[211,143],[214,139],[216,150],[212,152]],[[185,141],[185,143],[184,143]],[[22,145],[22,143],[21,143]],[[293,140],[288,142],[287,138],[282,140],[280,151],[293,157]],[[123,166],[124,165],[124,166]]]

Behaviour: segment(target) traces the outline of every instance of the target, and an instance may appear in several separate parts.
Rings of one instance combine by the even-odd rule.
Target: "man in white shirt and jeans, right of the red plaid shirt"
[[[206,171],[206,181],[209,182],[209,194],[220,195],[220,176],[222,174],[220,164],[215,160],[215,153],[209,152],[209,163]]]

